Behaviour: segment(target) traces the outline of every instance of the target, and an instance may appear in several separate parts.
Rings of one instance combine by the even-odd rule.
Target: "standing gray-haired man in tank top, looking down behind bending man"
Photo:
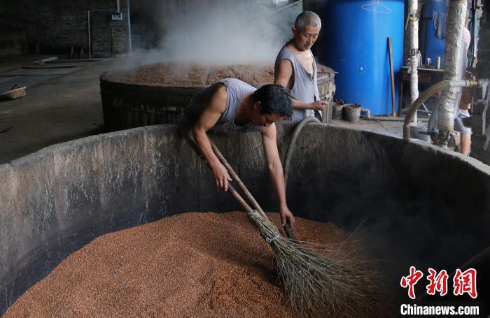
[[[294,38],[279,51],[274,66],[274,84],[290,90],[293,97],[293,122],[304,117],[316,117],[327,102],[320,101],[316,84],[316,62],[311,46],[321,29],[320,17],[314,12],[304,11],[296,17],[292,27]]]

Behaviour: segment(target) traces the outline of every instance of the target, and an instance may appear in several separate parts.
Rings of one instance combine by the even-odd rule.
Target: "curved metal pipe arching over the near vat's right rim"
[[[407,115],[405,115],[405,122],[403,123],[403,139],[409,140],[410,138],[410,123],[412,122],[416,111],[422,105],[426,99],[432,96],[435,92],[440,91],[441,89],[454,88],[454,87],[476,87],[482,86],[484,80],[443,80],[442,82],[438,82],[437,84],[429,87],[420,94],[419,98],[417,98],[412,106],[407,111]]]

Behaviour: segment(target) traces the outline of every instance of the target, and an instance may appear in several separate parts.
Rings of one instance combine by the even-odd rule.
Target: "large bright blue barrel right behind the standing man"
[[[388,37],[398,105],[403,59],[403,0],[328,0],[323,12],[324,62],[335,75],[336,99],[372,115],[392,113]],[[398,109],[398,106],[397,106]]]

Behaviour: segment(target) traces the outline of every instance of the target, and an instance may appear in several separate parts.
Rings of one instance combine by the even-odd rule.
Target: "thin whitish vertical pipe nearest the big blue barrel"
[[[417,9],[419,0],[409,0],[409,20],[410,20],[410,104],[419,97],[419,20],[417,18]],[[417,122],[416,115],[414,122]]]

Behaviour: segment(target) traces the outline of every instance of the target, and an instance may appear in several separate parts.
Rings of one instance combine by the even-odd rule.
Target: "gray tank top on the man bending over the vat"
[[[255,87],[248,85],[246,82],[237,80],[236,78],[225,78],[215,82],[213,85],[204,87],[190,99],[189,106],[184,109],[185,118],[182,122],[195,122],[197,117],[201,115],[204,108],[211,101],[211,97],[216,92],[216,89],[225,85],[226,87],[226,107],[221,113],[218,122],[209,129],[218,133],[248,133],[259,131],[263,126],[255,126],[251,122],[244,125],[235,124],[235,114],[237,113],[240,99],[248,92],[255,92]]]

